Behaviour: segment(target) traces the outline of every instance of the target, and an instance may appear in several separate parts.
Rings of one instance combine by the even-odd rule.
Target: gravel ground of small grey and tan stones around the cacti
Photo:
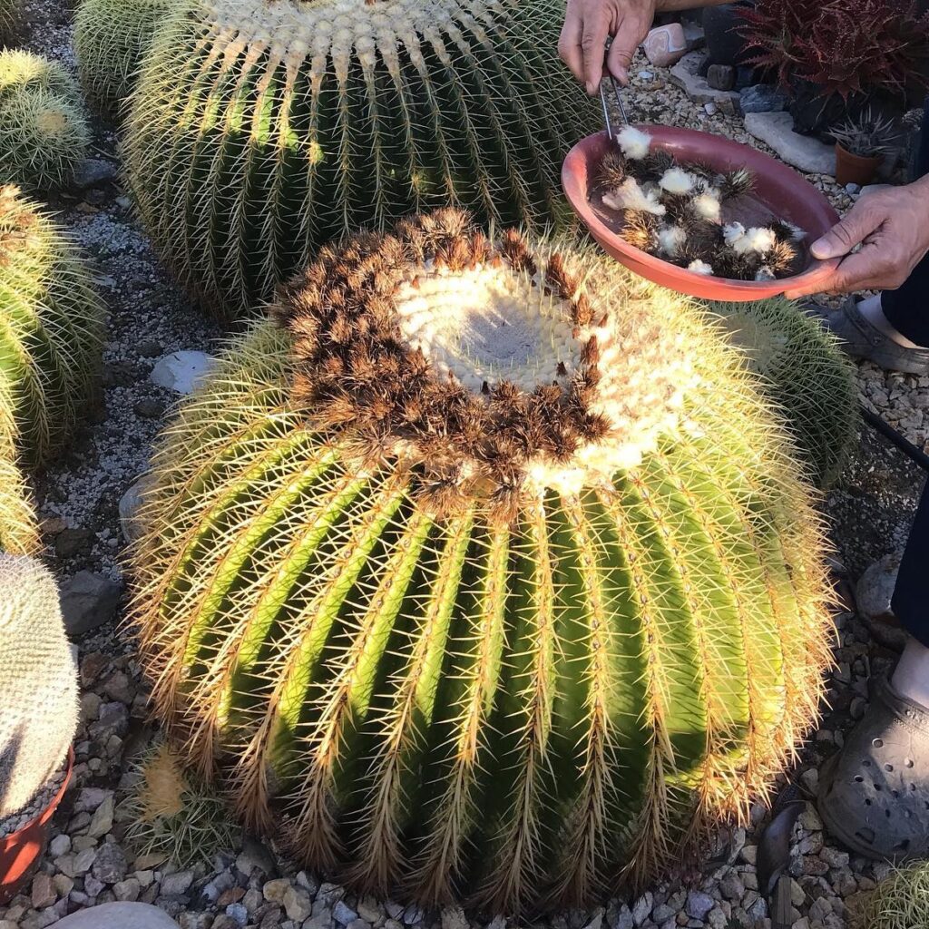
[[[27,6],[23,45],[71,63],[70,12],[55,0]],[[739,141],[739,118],[709,114],[668,82],[668,72],[639,67],[627,95],[636,119],[686,125]],[[81,192],[50,203],[98,268],[111,309],[110,342],[102,402],[68,453],[39,479],[41,514],[49,558],[67,580],[79,570],[120,580],[123,544],[118,503],[143,469],[150,440],[176,399],[153,385],[150,369],[177,349],[209,350],[221,335],[173,287],[159,268],[120,189],[112,128],[98,126],[95,157],[104,176]],[[812,177],[840,209],[852,195],[828,177]],[[926,445],[929,379],[886,374],[861,365],[862,398],[910,440]],[[905,538],[920,488],[919,472],[868,431],[833,491],[827,510],[836,527],[839,554],[853,575]],[[831,710],[792,772],[807,801],[792,842],[792,929],[839,929],[857,895],[886,872],[883,865],[849,857],[831,844],[814,805],[817,765],[843,744],[844,732],[864,713],[867,678],[886,670],[890,652],[870,640],[851,612],[837,618],[837,670],[831,679]],[[101,627],[80,649],[82,723],[76,740],[73,787],[54,819],[41,870],[5,910],[0,929],[42,929],[61,916],[110,900],[155,903],[183,929],[468,929],[504,920],[469,920],[459,909],[422,912],[389,900],[357,899],[317,875],[295,870],[273,847],[254,837],[216,857],[212,867],[177,868],[138,857],[125,841],[120,801],[131,782],[133,760],[153,736],[132,644]],[[544,924],[552,929],[770,929],[758,894],[755,857],[765,810],[758,806],[748,829],[724,831],[712,857],[697,872],[651,888],[635,900],[605,901],[588,912],[572,911]]]

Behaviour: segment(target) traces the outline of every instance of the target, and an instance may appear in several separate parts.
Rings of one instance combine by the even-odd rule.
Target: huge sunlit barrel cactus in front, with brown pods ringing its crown
[[[253,829],[515,909],[678,860],[829,661],[791,443],[686,297],[448,211],[326,248],[153,459],[153,701]]]

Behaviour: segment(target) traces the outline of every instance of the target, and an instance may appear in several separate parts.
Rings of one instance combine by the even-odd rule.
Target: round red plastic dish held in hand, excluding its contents
[[[816,242],[839,221],[829,201],[812,184],[763,151],[692,129],[666,125],[638,128],[651,136],[653,149],[671,152],[682,164],[700,161],[720,171],[745,167],[754,173],[754,193],[741,198],[731,215],[724,208],[727,221],[738,219],[745,226],[757,226],[775,217],[786,219],[805,230],[805,245]],[[608,255],[648,281],[681,294],[736,302],[759,300],[799,288],[818,289],[837,267],[838,258],[818,261],[805,251],[802,256],[804,270],[799,274],[777,281],[730,281],[696,274],[640,252],[618,234],[622,216],[604,206],[599,196],[591,192],[591,178],[595,177],[597,166],[613,144],[605,132],[578,142],[561,168],[561,184],[574,212]]]

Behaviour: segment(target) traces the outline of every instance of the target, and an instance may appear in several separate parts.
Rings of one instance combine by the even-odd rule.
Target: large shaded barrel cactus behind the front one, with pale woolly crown
[[[562,0],[175,0],[127,119],[140,215],[235,316],[325,242],[415,210],[563,215],[598,112],[556,56]]]

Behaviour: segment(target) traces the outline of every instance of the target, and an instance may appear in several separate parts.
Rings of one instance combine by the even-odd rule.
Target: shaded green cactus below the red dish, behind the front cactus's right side
[[[854,368],[838,340],[783,297],[715,303],[737,345],[749,353],[768,395],[784,414],[820,487],[841,474],[857,438]]]

